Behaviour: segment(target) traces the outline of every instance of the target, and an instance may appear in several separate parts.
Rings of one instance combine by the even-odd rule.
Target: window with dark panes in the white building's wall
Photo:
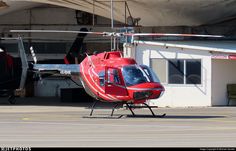
[[[161,83],[201,84],[200,59],[151,59],[151,67]]]

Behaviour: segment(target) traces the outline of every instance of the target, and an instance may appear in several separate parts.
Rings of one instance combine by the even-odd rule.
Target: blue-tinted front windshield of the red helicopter
[[[136,65],[125,66],[122,68],[126,86],[133,86],[145,82],[150,82],[150,78],[145,71]]]

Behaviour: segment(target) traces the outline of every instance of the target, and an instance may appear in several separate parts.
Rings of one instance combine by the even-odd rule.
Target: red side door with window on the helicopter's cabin
[[[121,78],[118,68],[106,67],[105,93],[110,95],[127,96],[128,92]]]

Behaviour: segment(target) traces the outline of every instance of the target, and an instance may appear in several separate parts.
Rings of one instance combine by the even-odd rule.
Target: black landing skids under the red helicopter
[[[136,115],[136,114],[134,113],[134,111],[132,110],[132,109],[134,109],[134,108],[148,108],[148,109],[150,110],[150,112],[151,112],[151,116],[150,116],[150,117],[152,117],[152,118],[163,118],[163,117],[166,116],[166,114],[156,115],[156,114],[153,112],[152,107],[149,106],[149,105],[146,104],[146,103],[143,103],[144,106],[141,106],[141,107],[139,106],[139,107],[137,107],[137,106],[131,106],[131,104],[128,104],[128,103],[123,103],[123,102],[121,103],[121,102],[118,102],[118,103],[115,103],[115,106],[113,106],[112,112],[111,112],[110,116],[107,116],[107,117],[95,116],[95,117],[94,117],[94,116],[93,116],[93,112],[94,112],[95,106],[97,105],[98,102],[99,102],[99,101],[97,100],[97,101],[95,101],[95,102],[93,103],[93,105],[92,105],[92,107],[91,107],[90,115],[89,115],[89,116],[85,116],[84,118],[120,119],[120,118],[124,117],[124,115],[114,116],[114,111],[115,111],[115,109],[118,107],[118,105],[123,105],[123,104],[126,104],[126,107],[127,107],[127,108],[130,110],[130,112],[132,113],[131,116],[130,116],[130,115],[127,115],[127,117],[147,117],[147,115]]]

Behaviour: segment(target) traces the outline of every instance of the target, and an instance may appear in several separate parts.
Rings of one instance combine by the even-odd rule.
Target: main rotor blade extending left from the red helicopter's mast
[[[104,35],[103,32],[90,32],[90,31],[69,31],[69,30],[10,30],[12,33],[74,33],[74,34],[93,34]]]

